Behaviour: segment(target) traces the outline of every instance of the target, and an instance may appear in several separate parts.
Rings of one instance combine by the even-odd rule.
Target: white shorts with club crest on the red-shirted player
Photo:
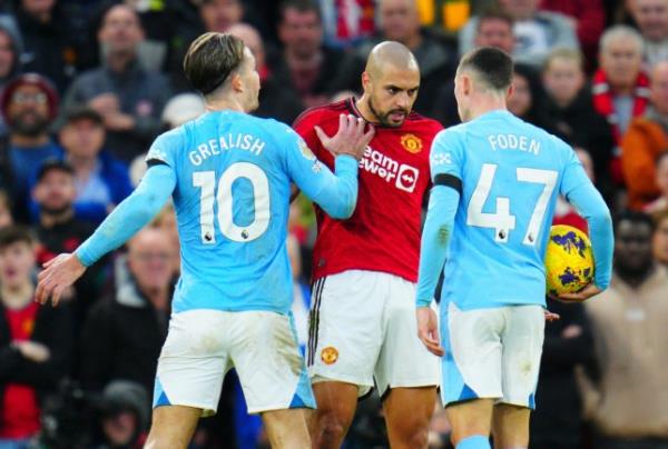
[[[350,270],[315,281],[308,338],[312,382],[342,381],[364,396],[374,386],[438,386],[439,358],[418,339],[415,285],[377,271]]]

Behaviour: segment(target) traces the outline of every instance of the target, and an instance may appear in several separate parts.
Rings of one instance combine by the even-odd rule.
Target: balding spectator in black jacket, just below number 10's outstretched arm
[[[115,295],[91,309],[85,325],[81,379],[87,389],[99,391],[125,379],[153,391],[177,260],[163,230],[147,228],[130,240],[129,273],[124,266],[116,270]]]

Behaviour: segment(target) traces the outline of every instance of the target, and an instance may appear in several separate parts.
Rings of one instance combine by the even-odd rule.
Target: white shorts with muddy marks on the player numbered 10
[[[225,373],[236,368],[249,413],[315,408],[292,316],[268,311],[174,313],[158,360],[154,408],[215,415]]]

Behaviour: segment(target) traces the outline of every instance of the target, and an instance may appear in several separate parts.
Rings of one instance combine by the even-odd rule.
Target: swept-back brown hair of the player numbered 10
[[[190,84],[207,96],[219,88],[244,61],[244,41],[229,33],[207,32],[197,38],[184,59]]]

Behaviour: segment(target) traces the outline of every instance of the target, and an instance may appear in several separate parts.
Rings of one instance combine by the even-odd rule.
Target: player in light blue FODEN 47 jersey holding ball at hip
[[[587,219],[596,260],[593,283],[561,298],[584,300],[610,280],[610,212],[570,147],[508,112],[511,79],[503,51],[464,56],[455,78],[464,123],[432,146],[418,325],[423,343],[445,356],[441,392],[458,449],[490,448],[492,422],[494,447],[529,445],[558,194]],[[439,337],[429,305],[444,265]]]

